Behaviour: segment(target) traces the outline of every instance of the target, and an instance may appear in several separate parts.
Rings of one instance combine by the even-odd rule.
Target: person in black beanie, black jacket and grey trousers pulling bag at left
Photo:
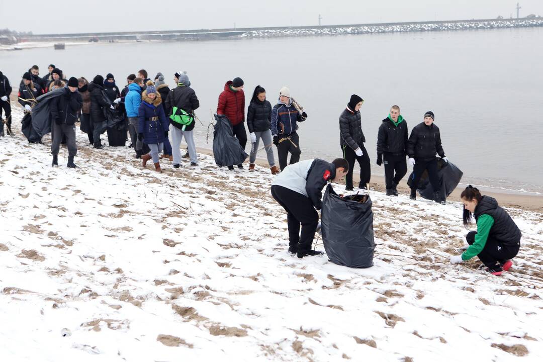
[[[66,137],[68,148],[68,168],[76,168],[73,158],[77,155],[75,144],[75,121],[83,106],[83,98],[77,91],[79,81],[77,78],[70,78],[67,87],[61,88],[63,92],[50,102],[51,112],[51,154],[53,155],[53,167],[58,167],[58,154],[62,137]]]

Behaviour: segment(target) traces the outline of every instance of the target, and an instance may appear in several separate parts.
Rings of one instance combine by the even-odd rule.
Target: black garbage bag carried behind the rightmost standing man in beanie
[[[439,176],[439,185],[441,185],[440,193],[441,200],[445,200],[462,180],[464,173],[454,166],[451,161],[445,162],[441,158],[438,159],[438,176]],[[413,183],[413,173],[409,175],[407,180],[407,185],[411,187]],[[427,199],[434,200],[434,189],[430,183],[430,178],[428,177],[428,172],[425,171],[419,180],[419,185],[416,187],[419,190],[419,194]]]

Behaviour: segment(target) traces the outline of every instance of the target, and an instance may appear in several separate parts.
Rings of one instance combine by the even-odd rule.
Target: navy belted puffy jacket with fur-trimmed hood
[[[151,100],[147,93],[143,92],[143,100],[138,109],[137,132],[143,134],[143,142],[147,144],[159,144],[164,142],[165,132],[169,129],[169,123],[162,107],[160,93]]]

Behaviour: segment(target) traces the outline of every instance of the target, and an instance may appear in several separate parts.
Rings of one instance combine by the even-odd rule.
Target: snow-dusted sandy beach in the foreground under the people
[[[509,209],[522,247],[493,277],[448,262],[459,203],[372,191],[375,266],[349,269],[286,251],[267,169],[157,174],[79,131],[81,168],[53,169],[44,140],[0,139],[2,361],[543,358],[541,214]]]

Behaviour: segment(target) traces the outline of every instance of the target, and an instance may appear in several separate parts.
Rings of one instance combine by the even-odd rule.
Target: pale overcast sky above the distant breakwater
[[[543,0],[519,0],[543,16]],[[0,0],[1,28],[34,34],[516,17],[513,0]]]

